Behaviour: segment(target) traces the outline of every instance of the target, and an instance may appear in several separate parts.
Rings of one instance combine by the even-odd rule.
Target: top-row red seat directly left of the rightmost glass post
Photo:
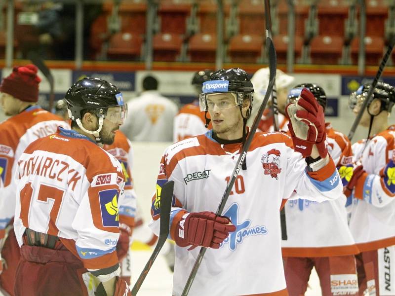
[[[343,37],[348,10],[348,6],[339,0],[320,1],[318,4],[318,34]]]

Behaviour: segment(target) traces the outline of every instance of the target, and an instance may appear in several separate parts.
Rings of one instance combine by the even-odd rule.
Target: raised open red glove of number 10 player
[[[296,151],[304,157],[310,156],[316,145],[319,156],[328,154],[325,132],[325,118],[322,107],[310,90],[303,88],[296,103],[285,107],[288,129]]]

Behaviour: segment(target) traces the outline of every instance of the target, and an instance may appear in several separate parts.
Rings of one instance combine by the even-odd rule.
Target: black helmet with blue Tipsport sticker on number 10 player
[[[254,98],[254,86],[248,74],[240,68],[222,69],[210,75],[210,80],[203,82],[203,93],[199,95],[200,111],[208,111],[206,95],[213,93],[232,92],[236,95],[236,105],[241,105],[244,99],[250,100],[251,113],[252,101]]]

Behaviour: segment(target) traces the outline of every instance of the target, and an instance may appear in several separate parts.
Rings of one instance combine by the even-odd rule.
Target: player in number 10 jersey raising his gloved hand
[[[254,89],[245,71],[233,68],[211,74],[202,90],[201,111],[210,113],[213,129],[165,149],[157,181],[157,192],[166,180],[175,182],[170,218],[170,237],[176,243],[173,295],[181,295],[198,246],[209,249],[189,295],[288,295],[278,215],[282,198],[296,190],[324,201],[338,197],[343,187],[324,144],[322,108],[304,89],[297,104],[287,108],[292,138],[254,135],[224,216],[218,217],[214,212],[248,133]],[[154,196],[151,208],[156,233],[159,200]]]

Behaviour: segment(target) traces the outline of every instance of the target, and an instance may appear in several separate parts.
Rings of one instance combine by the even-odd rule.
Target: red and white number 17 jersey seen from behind
[[[89,270],[118,264],[118,197],[124,177],[117,158],[73,130],[32,143],[18,160],[14,229],[58,236]]]

